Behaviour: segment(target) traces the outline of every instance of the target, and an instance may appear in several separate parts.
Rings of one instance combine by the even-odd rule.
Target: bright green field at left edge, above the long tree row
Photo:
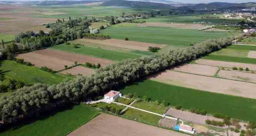
[[[0,69],[3,70],[5,77],[24,82],[27,85],[34,83],[57,84],[66,76],[52,74],[42,71],[34,66],[26,66],[15,61],[0,61]]]

